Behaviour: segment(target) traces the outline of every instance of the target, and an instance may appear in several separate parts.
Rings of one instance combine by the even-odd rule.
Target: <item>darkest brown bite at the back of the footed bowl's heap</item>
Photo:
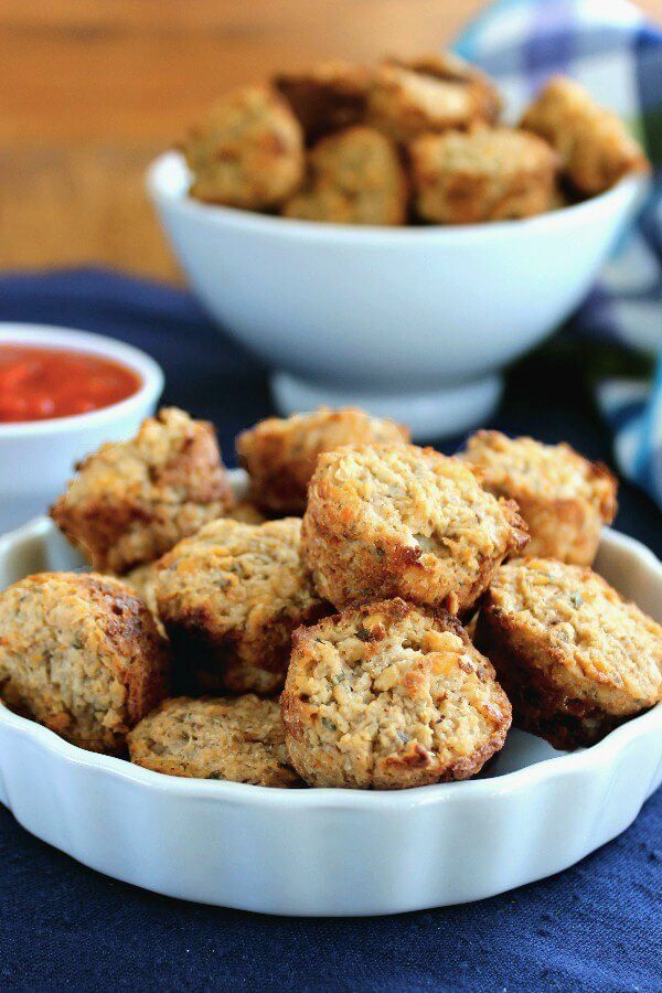
[[[295,111],[309,142],[359,124],[365,115],[370,70],[334,60],[279,73],[274,84]]]

